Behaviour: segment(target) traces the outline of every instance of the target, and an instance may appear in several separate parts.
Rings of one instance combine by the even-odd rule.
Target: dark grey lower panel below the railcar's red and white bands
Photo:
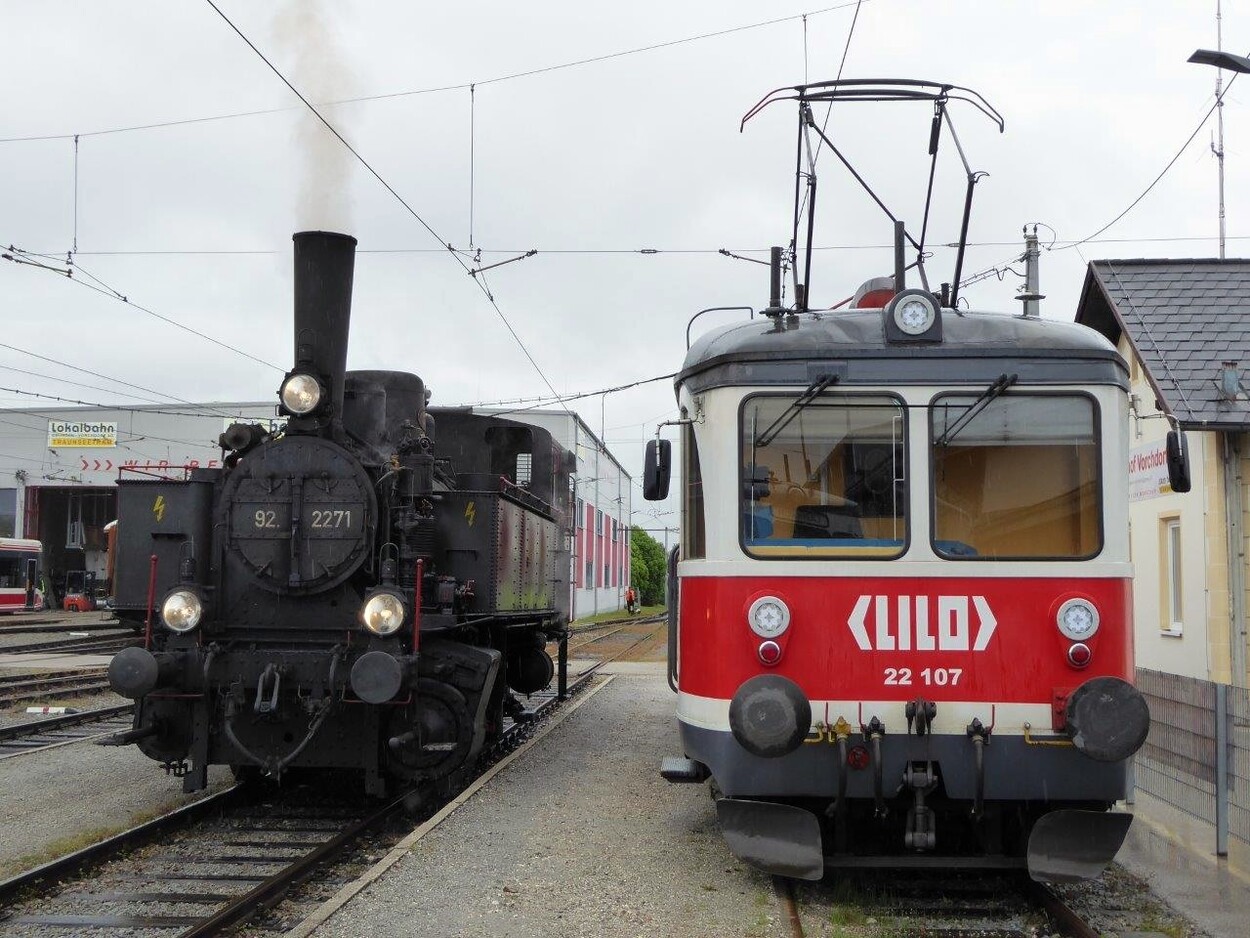
[[[829,798],[838,793],[838,747],[804,743],[776,758],[751,755],[729,730],[681,723],[686,755],[708,765],[721,790],[731,798]],[[855,734],[851,745],[861,744]],[[890,798],[899,788],[908,763],[931,759],[950,798],[976,794],[976,762],[965,737],[886,735],[881,739],[882,789]],[[985,747],[985,798],[988,800],[1105,800],[1125,795],[1125,763],[1101,763],[1072,747],[1029,745],[1021,737],[991,737]],[[872,767],[848,768],[846,793],[872,797]]]

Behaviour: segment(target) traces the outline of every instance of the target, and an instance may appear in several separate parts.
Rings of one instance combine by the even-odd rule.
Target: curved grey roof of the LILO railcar
[[[1032,384],[1114,384],[1128,366],[1102,335],[1076,323],[942,310],[942,341],[886,343],[880,309],[754,319],[701,335],[676,385],[806,384],[832,371],[842,384],[980,384],[1002,373]]]

